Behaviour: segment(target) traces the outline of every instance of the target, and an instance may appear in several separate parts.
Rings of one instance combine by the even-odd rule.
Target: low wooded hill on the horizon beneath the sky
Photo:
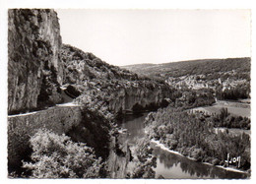
[[[235,70],[237,73],[250,73],[249,57],[226,59],[201,59],[163,64],[138,64],[121,68],[151,78],[181,77],[186,75],[209,75]]]

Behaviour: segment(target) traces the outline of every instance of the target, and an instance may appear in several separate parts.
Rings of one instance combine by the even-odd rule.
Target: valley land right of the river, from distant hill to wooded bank
[[[175,97],[168,107],[146,118],[149,138],[167,150],[214,165],[226,166],[224,155],[240,153],[248,166],[244,165],[242,170],[250,172],[249,61],[249,58],[229,58],[124,66],[139,76],[163,80],[174,89]],[[244,146],[235,145],[234,140]],[[230,147],[235,147],[236,152],[229,150]]]

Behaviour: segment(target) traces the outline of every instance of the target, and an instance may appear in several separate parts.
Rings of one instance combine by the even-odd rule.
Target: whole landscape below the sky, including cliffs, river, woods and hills
[[[250,177],[250,58],[118,67],[52,9],[8,15],[10,178]]]

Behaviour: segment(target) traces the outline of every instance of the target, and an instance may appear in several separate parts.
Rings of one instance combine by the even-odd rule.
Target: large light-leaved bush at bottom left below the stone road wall
[[[32,170],[32,178],[96,178],[103,164],[92,148],[74,143],[69,137],[39,130],[31,140],[32,162],[24,167]]]

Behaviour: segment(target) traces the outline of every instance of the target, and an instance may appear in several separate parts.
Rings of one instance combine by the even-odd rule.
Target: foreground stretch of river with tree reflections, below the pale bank
[[[228,171],[213,165],[196,162],[185,156],[161,150],[154,147],[154,154],[158,157],[157,177],[164,178],[246,178],[246,174]]]

